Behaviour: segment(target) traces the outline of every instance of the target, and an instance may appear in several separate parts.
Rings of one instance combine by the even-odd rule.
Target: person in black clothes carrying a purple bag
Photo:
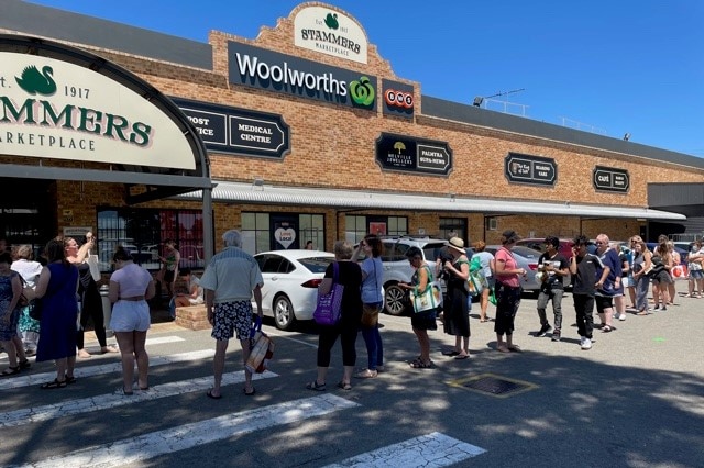
[[[340,337],[342,345],[342,366],[344,367],[342,380],[338,388],[352,390],[352,372],[356,364],[356,349],[354,344],[362,320],[362,268],[352,259],[352,246],[346,241],[338,241],[333,247],[336,261],[338,265],[337,283],[344,286],[342,293],[340,320],[334,325],[319,325],[318,356],[316,379],[306,385],[308,390],[324,391],[328,368],[330,367],[330,355],[334,342]],[[318,287],[318,294],[328,294],[332,289],[334,278],[334,265],[330,264],[326,270],[326,276]]]

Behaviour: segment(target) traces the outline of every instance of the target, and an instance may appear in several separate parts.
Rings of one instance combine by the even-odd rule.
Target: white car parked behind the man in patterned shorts
[[[320,250],[272,250],[254,256],[264,277],[262,312],[276,327],[290,330],[297,321],[312,319],[318,286],[334,255]],[[254,299],[252,304],[255,305]]]

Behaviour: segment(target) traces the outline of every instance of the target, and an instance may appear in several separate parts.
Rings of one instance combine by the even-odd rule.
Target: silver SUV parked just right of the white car
[[[384,309],[392,315],[402,315],[406,310],[406,290],[399,282],[410,282],[414,268],[408,263],[406,252],[410,247],[418,247],[422,252],[424,261],[432,268],[435,274],[436,257],[447,242],[430,237],[387,237],[382,239],[384,244]]]

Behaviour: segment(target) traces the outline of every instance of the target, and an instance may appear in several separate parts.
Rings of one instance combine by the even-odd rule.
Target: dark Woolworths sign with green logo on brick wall
[[[355,109],[376,110],[376,77],[230,42],[229,79],[264,89]]]

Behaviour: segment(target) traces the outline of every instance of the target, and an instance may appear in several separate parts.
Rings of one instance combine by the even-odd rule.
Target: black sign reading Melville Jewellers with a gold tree
[[[452,151],[447,142],[382,133],[376,141],[376,163],[385,170],[447,176]]]

